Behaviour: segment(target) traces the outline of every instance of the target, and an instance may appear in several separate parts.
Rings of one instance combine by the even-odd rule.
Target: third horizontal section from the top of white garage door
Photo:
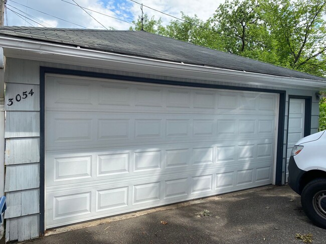
[[[47,154],[47,186],[273,163],[272,139]]]

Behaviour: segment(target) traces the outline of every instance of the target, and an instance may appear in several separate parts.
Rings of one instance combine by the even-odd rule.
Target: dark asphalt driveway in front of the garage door
[[[303,243],[296,233],[326,243],[299,195],[270,185],[59,228],[25,243]]]

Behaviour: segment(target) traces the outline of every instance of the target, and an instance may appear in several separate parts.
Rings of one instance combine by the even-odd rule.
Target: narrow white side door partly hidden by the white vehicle
[[[286,153],[286,174],[285,182],[288,177],[288,162],[291,155],[291,150],[294,144],[301,138],[304,137],[304,108],[305,99],[289,99],[289,121],[288,121],[288,132],[287,132],[287,153]]]

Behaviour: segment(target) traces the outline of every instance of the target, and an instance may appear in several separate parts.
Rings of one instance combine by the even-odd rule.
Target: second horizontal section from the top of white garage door
[[[132,116],[131,116],[132,115]],[[275,130],[274,116],[147,114],[147,113],[48,112],[48,150],[80,146],[181,141],[224,141],[269,137]],[[262,119],[263,118],[263,119]],[[74,142],[74,143],[71,143]]]

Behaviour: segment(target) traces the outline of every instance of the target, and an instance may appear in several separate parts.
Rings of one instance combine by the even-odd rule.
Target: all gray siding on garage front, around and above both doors
[[[90,64],[91,65],[91,64]],[[211,80],[194,80],[191,78],[170,77],[146,73],[136,73],[104,68],[93,68],[78,65],[51,63],[44,61],[24,60],[17,58],[7,58],[5,80],[8,85],[8,95],[16,96],[17,92],[23,92],[29,87],[33,87],[37,92],[40,83],[40,66],[53,68],[73,69],[80,71],[91,71],[98,73],[110,73],[117,75],[127,75],[134,77],[155,78],[162,80],[175,80],[183,82],[198,82],[206,84],[220,84],[229,86],[239,86],[237,83]],[[28,84],[28,85],[27,85]],[[272,86],[257,86],[255,84],[244,84],[244,87],[273,89]],[[25,88],[26,87],[26,88]],[[285,111],[285,131],[283,150],[283,182],[285,182],[286,167],[286,136],[287,136],[287,109],[288,95],[312,96],[312,117],[311,132],[317,132],[318,127],[318,101],[315,98],[317,90],[307,89],[286,89],[286,111]],[[16,93],[15,93],[16,92]],[[38,94],[39,95],[39,94]],[[8,97],[9,98],[9,97]],[[36,98],[36,97],[34,97]],[[7,94],[6,94],[7,99]],[[38,97],[37,97],[38,100]],[[6,100],[7,101],[7,100]],[[38,237],[39,234],[39,103],[38,101],[26,104],[16,104],[15,107],[8,107],[6,121],[6,191],[9,197],[9,213],[6,213],[7,228],[6,240],[25,240]],[[21,123],[19,121],[24,121]],[[27,122],[26,122],[27,121]],[[28,172],[28,173],[27,173]],[[31,175],[33,174],[33,177]],[[37,204],[24,203],[28,198],[26,194],[33,192],[34,201]],[[17,198],[17,199],[16,199]],[[20,198],[20,199],[19,199]]]

